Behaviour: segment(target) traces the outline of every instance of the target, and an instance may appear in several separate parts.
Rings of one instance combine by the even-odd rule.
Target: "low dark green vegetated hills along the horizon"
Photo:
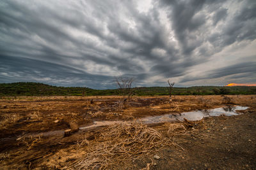
[[[111,96],[118,95],[118,89],[95,90],[87,87],[56,87],[43,83],[0,83],[0,96]],[[133,94],[138,96],[168,95],[166,87],[136,87]],[[256,87],[173,87],[173,95],[213,95],[213,94],[256,94]]]

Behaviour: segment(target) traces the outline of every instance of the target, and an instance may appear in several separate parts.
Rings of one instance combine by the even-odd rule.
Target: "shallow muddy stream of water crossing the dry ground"
[[[201,120],[204,117],[219,117],[220,115],[225,115],[227,117],[239,115],[237,113],[237,110],[246,110],[248,107],[244,106],[228,106],[225,108],[215,108],[212,110],[200,110],[200,111],[189,111],[177,114],[167,114],[167,115],[161,115],[161,116],[154,116],[154,117],[145,117],[140,118],[138,121],[142,122],[143,124],[159,124],[164,122],[176,122],[177,120],[184,120],[186,118],[187,120],[195,121],[195,120]],[[107,125],[113,125],[113,124],[122,124],[124,121],[100,121],[100,122],[93,122],[93,125],[89,126],[82,126],[79,127],[80,131],[86,131],[88,129],[93,129],[96,127],[102,127]],[[129,122],[128,122],[129,123]],[[25,136],[36,136],[40,135],[42,136],[56,136],[56,135],[64,135],[64,131],[49,131],[44,133],[38,133],[38,134],[26,134]],[[0,141],[10,141],[15,140],[19,138],[20,136],[13,136],[13,138],[2,138]]]

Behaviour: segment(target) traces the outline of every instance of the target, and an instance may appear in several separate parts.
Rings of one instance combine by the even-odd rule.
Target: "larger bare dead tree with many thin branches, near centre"
[[[130,101],[132,96],[132,82],[135,80],[134,77],[116,77],[115,81],[118,86],[119,94],[123,96],[124,105],[127,101]]]

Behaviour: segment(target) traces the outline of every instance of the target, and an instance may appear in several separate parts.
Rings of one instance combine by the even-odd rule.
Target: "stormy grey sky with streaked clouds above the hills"
[[[0,83],[256,82],[256,1],[0,2]]]

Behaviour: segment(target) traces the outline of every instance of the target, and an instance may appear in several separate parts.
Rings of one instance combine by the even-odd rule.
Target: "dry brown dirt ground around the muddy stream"
[[[95,159],[103,155],[105,161],[99,160],[103,163],[98,161],[91,169],[256,169],[256,96],[228,97],[231,101],[223,101],[223,96],[175,96],[170,104],[167,96],[134,96],[125,107],[118,96],[1,97],[0,169],[79,169],[83,166],[72,165],[78,160],[90,162],[84,159],[89,153],[99,154]],[[105,146],[102,143],[117,146],[111,138],[102,138],[108,127],[77,131],[93,121],[131,121],[227,104],[249,108],[238,116],[204,118],[193,127],[182,122],[141,126],[161,138],[150,138],[152,147],[145,148],[147,152],[129,154],[124,162],[116,160],[112,152],[95,152],[101,149],[97,146]],[[174,124],[179,128],[173,129]],[[64,135],[67,129],[72,132]],[[42,136],[42,132],[50,133]],[[109,137],[108,133],[104,135]],[[132,136],[122,135],[123,140]],[[132,146],[139,147],[137,144]]]

